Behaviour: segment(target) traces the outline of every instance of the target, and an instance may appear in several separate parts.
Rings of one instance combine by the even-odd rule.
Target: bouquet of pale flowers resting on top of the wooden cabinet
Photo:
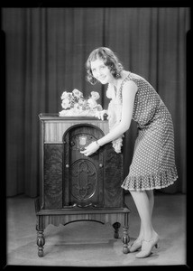
[[[91,92],[90,98],[84,98],[81,91],[74,89],[72,92],[64,91],[61,95],[61,107],[64,110],[59,112],[60,117],[94,117],[97,111],[103,110],[97,104],[100,95],[96,91]]]

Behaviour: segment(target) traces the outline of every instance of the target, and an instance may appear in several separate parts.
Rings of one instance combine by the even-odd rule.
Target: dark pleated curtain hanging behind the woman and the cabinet
[[[186,42],[189,9],[3,8],[5,32],[6,194],[39,194],[39,117],[58,113],[64,90],[92,90],[107,107],[106,86],[87,83],[90,51],[106,46],[125,70],[148,79],[174,123],[179,180],[162,192],[186,192]],[[136,125],[125,136],[125,174]]]

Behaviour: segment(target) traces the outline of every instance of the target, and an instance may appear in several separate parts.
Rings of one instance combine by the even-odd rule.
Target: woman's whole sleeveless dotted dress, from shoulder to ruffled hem
[[[131,72],[128,72],[118,91],[120,100],[127,80],[133,80],[138,86],[133,107],[138,135],[133,161],[122,188],[142,191],[167,187],[178,178],[170,112],[152,85]]]

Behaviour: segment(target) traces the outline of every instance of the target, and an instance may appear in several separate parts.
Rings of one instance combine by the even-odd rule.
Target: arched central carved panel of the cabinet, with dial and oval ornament
[[[104,204],[103,154],[86,157],[80,150],[103,136],[95,126],[73,126],[65,133],[64,142],[64,206],[98,207]]]

